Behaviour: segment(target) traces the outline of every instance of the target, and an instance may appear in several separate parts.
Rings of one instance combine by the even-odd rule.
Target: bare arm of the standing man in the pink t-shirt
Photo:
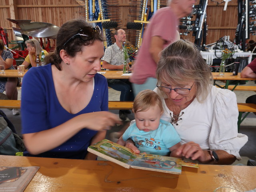
[[[160,52],[163,49],[164,43],[165,40],[163,40],[160,36],[153,36],[151,38],[149,52],[156,64],[160,59]]]

